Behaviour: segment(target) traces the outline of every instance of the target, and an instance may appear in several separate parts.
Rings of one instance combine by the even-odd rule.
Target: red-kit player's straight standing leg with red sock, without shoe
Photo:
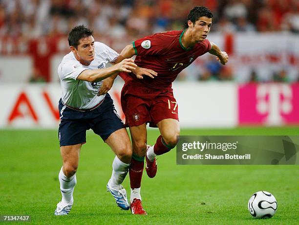
[[[147,127],[142,124],[136,127],[130,127],[133,155],[129,169],[131,195],[130,202],[136,198],[141,200],[140,187],[142,172],[144,168],[144,156],[147,150]]]

